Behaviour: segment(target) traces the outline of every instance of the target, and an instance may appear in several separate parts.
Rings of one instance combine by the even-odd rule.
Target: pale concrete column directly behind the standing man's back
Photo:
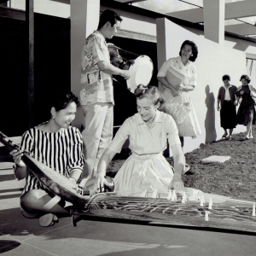
[[[100,0],[70,0],[70,50],[71,50],[71,90],[79,96],[81,76],[81,53],[84,39],[97,29],[100,17]],[[81,109],[73,120],[73,126],[81,128]]]

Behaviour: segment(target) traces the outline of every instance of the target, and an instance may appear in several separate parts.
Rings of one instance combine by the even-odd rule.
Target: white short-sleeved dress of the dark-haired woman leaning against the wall
[[[157,74],[158,77],[166,77],[167,70],[172,67],[178,73],[182,73],[184,76],[182,84],[185,86],[194,85],[196,86],[196,69],[194,64],[191,61],[184,66],[181,61],[181,57],[178,56],[176,58],[171,58],[167,60],[162,67],[160,67],[160,71]],[[170,103],[179,103],[179,104],[187,104],[190,111],[187,114],[181,125],[177,124],[178,135],[180,137],[197,137],[201,134],[201,127],[199,125],[198,119],[195,114],[195,108],[193,106],[193,102],[190,99],[188,91],[182,91],[180,96],[172,96],[171,90],[166,90],[162,84],[159,84],[159,90],[163,93],[166,103],[165,107],[168,107]],[[170,107],[170,106],[169,106]],[[167,108],[168,109],[168,108]],[[168,110],[163,110],[166,113],[171,114]]]

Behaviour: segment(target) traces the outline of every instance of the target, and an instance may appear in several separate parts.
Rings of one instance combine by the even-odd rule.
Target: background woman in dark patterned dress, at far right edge
[[[237,111],[238,125],[247,126],[247,136],[245,139],[253,138],[252,125],[256,124],[255,102],[256,88],[249,84],[251,79],[247,75],[241,76],[241,86],[237,88],[236,96],[238,102],[241,98],[241,103]]]

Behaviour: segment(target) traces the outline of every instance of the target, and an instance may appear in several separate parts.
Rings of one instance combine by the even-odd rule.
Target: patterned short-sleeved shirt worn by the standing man
[[[113,102],[112,75],[103,73],[97,66],[98,61],[108,61],[110,56],[105,38],[95,31],[85,39],[82,52],[80,102],[90,105],[96,102]]]

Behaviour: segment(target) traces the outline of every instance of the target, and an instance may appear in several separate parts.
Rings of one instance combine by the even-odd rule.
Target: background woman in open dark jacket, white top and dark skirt
[[[220,126],[224,129],[223,138],[232,139],[233,129],[236,128],[236,90],[235,85],[230,84],[230,76],[225,74],[222,77],[224,85],[218,90],[217,110],[220,110]],[[230,130],[228,134],[227,130]]]

